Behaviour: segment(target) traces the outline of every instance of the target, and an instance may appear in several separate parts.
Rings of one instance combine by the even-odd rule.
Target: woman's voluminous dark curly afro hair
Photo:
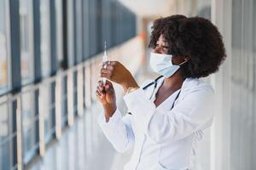
[[[149,48],[155,48],[163,35],[168,54],[189,57],[180,68],[183,78],[207,77],[218,71],[226,58],[222,36],[210,20],[177,14],[154,20],[152,29]]]

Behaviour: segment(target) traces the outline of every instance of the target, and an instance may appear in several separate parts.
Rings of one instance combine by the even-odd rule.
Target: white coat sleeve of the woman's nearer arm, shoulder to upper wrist
[[[126,94],[124,99],[135,123],[154,143],[183,139],[212,124],[215,102],[210,85],[191,90],[171,111],[156,108],[141,88]]]

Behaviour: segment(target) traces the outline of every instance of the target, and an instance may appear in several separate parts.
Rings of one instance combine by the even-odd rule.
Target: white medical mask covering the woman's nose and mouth
[[[187,61],[184,61],[185,63]],[[156,54],[151,52],[150,54],[150,66],[154,72],[164,76],[172,77],[172,75],[179,69],[180,65],[172,64],[172,54]]]

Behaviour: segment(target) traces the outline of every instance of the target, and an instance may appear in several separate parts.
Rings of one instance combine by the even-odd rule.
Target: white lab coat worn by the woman
[[[158,107],[155,94],[164,78],[158,81],[153,98],[149,99],[154,85],[124,96],[132,115],[122,116],[116,110],[109,122],[104,113],[98,123],[115,150],[125,152],[134,146],[131,160],[125,170],[185,170],[193,169],[195,146],[202,138],[203,130],[210,127],[214,115],[214,91],[212,86],[197,78],[186,78],[174,108],[172,104],[178,91]]]

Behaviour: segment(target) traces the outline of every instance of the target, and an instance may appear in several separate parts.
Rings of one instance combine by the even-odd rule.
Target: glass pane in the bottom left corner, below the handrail
[[[0,169],[11,169],[12,167],[12,144],[15,135],[12,134],[11,122],[6,103],[0,105]]]

